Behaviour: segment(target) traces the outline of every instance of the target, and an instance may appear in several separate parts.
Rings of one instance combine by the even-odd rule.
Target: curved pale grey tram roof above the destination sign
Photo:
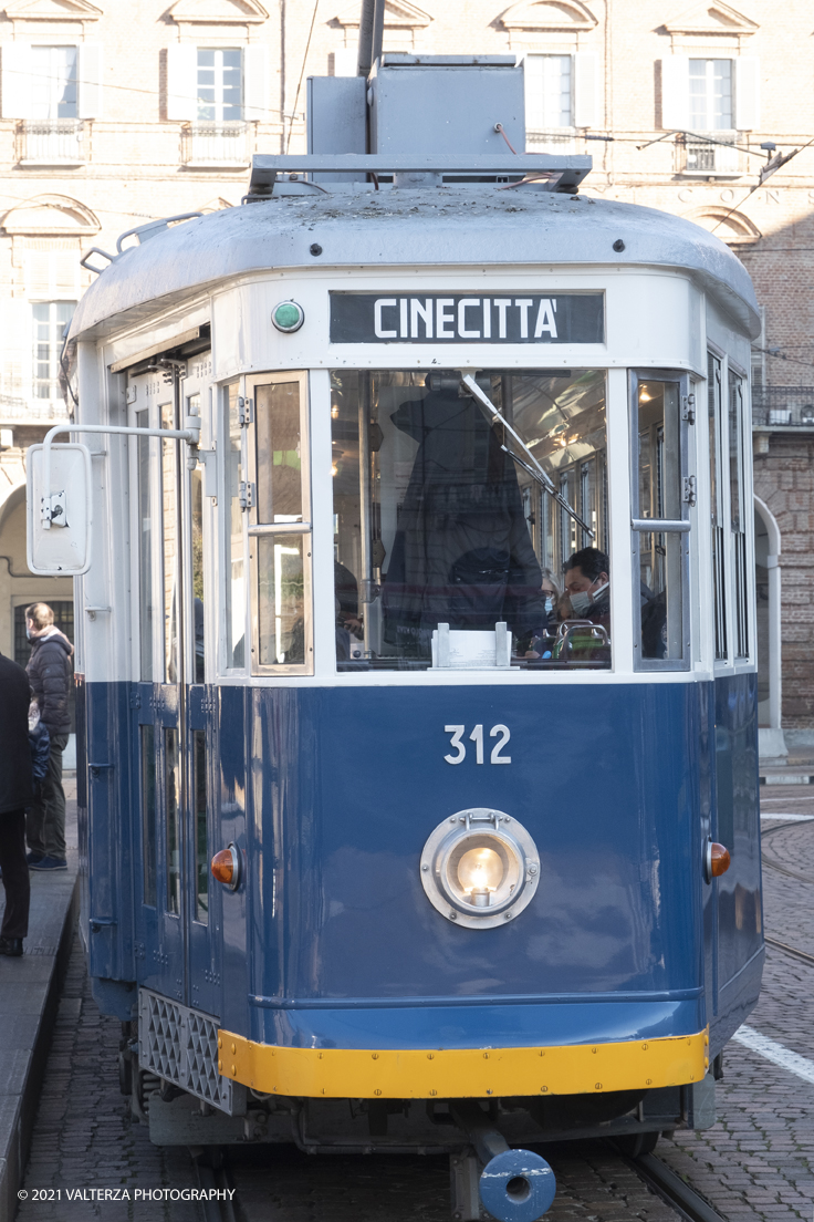
[[[625,243],[622,252],[614,243]],[[310,247],[319,243],[315,258]],[[752,280],[699,225],[653,208],[533,187],[458,183],[282,196],[223,209],[126,249],[82,297],[72,340],[145,320],[205,287],[264,269],[371,266],[650,266],[688,271],[752,337]]]

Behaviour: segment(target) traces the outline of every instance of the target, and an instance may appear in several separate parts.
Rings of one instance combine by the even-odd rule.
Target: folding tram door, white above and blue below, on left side
[[[209,408],[210,354],[129,379],[131,423],[181,428]],[[214,717],[206,695],[203,473],[185,446],[135,439],[140,982],[220,1011],[220,899],[210,886]],[[140,899],[140,906],[138,904]],[[212,901],[218,910],[212,909]]]

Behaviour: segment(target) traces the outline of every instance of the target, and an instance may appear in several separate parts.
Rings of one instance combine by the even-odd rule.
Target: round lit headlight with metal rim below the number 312
[[[432,832],[421,854],[421,882],[432,906],[470,929],[489,929],[516,916],[539,880],[531,836],[502,810],[478,807],[452,815]]]

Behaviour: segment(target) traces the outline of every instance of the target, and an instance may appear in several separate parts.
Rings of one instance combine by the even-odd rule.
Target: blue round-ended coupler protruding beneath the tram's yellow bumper
[[[513,1150],[476,1100],[459,1100],[449,1110],[475,1149],[450,1161],[456,1222],[477,1222],[483,1217],[481,1206],[497,1222],[537,1222],[556,1193],[546,1160],[531,1150]]]

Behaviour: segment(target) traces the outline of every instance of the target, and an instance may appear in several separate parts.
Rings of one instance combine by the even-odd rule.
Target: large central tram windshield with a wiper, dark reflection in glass
[[[610,665],[604,370],[332,375],[337,665]]]

